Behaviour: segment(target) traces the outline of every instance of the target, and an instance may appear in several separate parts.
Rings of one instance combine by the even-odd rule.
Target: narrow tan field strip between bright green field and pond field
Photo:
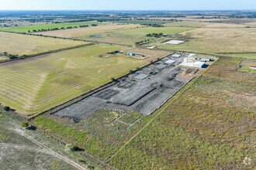
[[[64,30],[57,30],[57,31],[49,31],[49,32],[40,32],[46,36],[58,36],[58,37],[65,37],[65,38],[77,38],[83,36],[92,36],[92,35],[99,35],[104,32],[115,32],[125,29],[134,29],[137,27],[142,27],[140,25],[104,25],[104,26],[92,26],[92,27],[85,27],[85,28],[78,28],[78,29],[64,29]]]

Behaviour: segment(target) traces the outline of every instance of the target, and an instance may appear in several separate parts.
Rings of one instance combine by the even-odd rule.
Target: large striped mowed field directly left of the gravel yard
[[[154,51],[147,59],[106,56],[119,49],[122,47],[86,46],[0,66],[1,103],[22,114],[35,114],[170,54]]]

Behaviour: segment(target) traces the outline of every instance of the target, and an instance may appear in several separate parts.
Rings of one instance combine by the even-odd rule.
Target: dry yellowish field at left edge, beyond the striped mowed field
[[[71,46],[80,46],[87,43],[88,42],[0,32],[0,53],[7,52],[19,56],[43,53],[55,49],[64,49]]]

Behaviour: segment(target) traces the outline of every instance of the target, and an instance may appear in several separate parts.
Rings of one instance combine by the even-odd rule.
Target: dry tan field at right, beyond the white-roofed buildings
[[[164,44],[158,48],[256,59],[256,28],[245,27],[235,24],[209,24],[182,32],[182,36],[177,38],[188,42],[180,45]]]

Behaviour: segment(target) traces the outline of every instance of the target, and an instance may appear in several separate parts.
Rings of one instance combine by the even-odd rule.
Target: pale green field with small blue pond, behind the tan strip
[[[185,32],[192,28],[189,27],[146,27],[138,29],[128,29],[116,32],[106,32],[99,34],[99,38],[92,38],[90,36],[77,37],[76,39],[91,40],[96,42],[118,43],[123,45],[134,45],[135,42],[144,41],[147,39],[156,39],[154,37],[147,37],[149,33],[163,33],[173,35],[180,32]]]

